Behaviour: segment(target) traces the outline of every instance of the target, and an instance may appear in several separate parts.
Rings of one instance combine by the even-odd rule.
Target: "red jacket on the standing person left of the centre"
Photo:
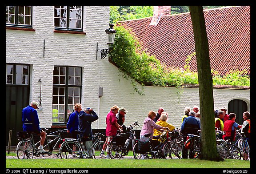
[[[106,136],[113,136],[116,135],[117,128],[115,123],[117,122],[116,114],[114,111],[110,111],[106,117]]]

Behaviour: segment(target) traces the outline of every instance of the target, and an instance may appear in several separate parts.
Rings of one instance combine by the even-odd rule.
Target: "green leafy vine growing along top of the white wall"
[[[116,64],[125,79],[131,77],[136,92],[143,95],[144,85],[181,87],[185,84],[198,84],[198,74],[189,69],[189,63],[195,52],[187,56],[184,68],[166,68],[166,65],[142,51],[135,34],[123,26],[115,27],[115,44],[109,59]],[[241,85],[250,86],[250,77],[242,75],[244,71],[230,71],[220,76],[212,71],[213,85]],[[140,90],[137,83],[142,85]]]

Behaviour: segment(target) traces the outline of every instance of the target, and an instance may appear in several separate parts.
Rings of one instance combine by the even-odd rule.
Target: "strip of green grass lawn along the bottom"
[[[200,159],[6,159],[6,168],[250,168],[250,161],[225,159],[212,162]]]

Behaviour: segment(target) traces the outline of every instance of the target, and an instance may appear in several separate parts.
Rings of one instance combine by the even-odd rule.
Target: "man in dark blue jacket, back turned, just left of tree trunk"
[[[196,113],[194,111],[190,111],[189,116],[186,117],[181,124],[180,130],[181,133],[183,134],[183,141],[184,143],[187,140],[188,134],[195,134],[198,135],[197,130],[200,130],[200,121],[196,119]],[[192,154],[191,154],[192,155]],[[183,149],[182,153],[183,158],[188,158],[188,150]]]

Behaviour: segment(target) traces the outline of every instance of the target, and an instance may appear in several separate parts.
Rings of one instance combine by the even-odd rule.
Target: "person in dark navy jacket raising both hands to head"
[[[78,115],[78,130],[80,131],[80,136],[84,138],[84,145],[86,149],[89,150],[92,146],[92,138],[88,138],[92,136],[92,122],[99,119],[98,115],[92,108],[88,107],[84,111],[80,111]],[[88,151],[89,157],[92,158],[92,149]]]

